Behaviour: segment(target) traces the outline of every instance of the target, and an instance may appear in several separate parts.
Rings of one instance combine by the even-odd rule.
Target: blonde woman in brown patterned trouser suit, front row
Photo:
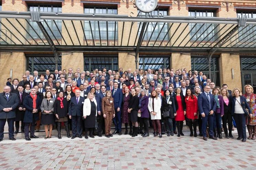
[[[112,137],[111,134],[111,123],[112,119],[115,117],[114,99],[110,90],[106,91],[106,96],[102,98],[101,102],[102,113],[105,119],[105,136]]]

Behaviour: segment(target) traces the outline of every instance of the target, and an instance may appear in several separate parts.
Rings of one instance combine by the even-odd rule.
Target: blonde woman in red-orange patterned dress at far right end
[[[250,108],[252,109],[252,116],[246,117],[246,126],[248,129],[249,137],[248,139],[256,139],[256,95],[253,94],[253,87],[251,85],[244,86],[245,94],[243,96]]]

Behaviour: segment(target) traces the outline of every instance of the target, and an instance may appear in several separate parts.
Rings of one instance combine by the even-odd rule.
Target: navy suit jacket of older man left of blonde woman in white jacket
[[[80,96],[78,104],[77,104],[76,96],[71,97],[69,108],[68,108],[68,115],[69,116],[82,116],[84,101],[85,101],[85,98]]]

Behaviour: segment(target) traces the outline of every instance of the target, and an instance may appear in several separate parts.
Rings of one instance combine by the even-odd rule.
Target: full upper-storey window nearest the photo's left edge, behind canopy
[[[41,12],[58,12],[61,13],[62,12],[62,6],[61,5],[38,5],[38,4],[29,4],[28,5],[28,11],[36,11],[38,9],[41,10]],[[53,34],[55,35],[56,38],[62,38],[59,31],[62,32],[62,20],[54,20],[56,25],[59,28],[59,31],[55,25],[55,23],[52,20],[45,20],[47,22],[47,24],[49,25],[49,27],[51,28]],[[46,25],[46,23],[44,22],[44,20],[41,20],[43,26],[45,27],[47,33],[49,34],[49,36],[51,38],[54,38],[53,34],[51,33],[51,31],[49,30],[48,26]],[[36,22],[32,22],[30,21],[31,26],[35,29],[35,31],[38,33],[38,35],[40,37],[44,37],[43,33],[41,32],[40,28],[38,27]],[[36,33],[33,31],[33,29],[28,25],[28,29],[29,29],[29,34],[33,37],[33,38],[39,38]],[[30,38],[29,35],[27,35],[28,38]]]

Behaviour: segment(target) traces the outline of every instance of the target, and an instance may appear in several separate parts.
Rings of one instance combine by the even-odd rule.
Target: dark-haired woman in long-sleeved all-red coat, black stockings
[[[188,126],[190,130],[189,136],[193,136],[193,129],[194,129],[194,137],[197,137],[197,124],[196,124],[197,111],[198,111],[197,97],[192,94],[190,88],[186,90],[185,102],[186,102],[186,109],[187,109],[186,116],[188,118]]]

